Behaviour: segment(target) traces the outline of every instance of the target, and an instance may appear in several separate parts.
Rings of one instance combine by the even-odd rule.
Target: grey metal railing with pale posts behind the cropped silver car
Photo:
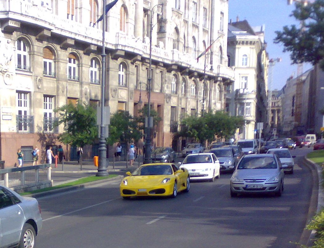
[[[51,181],[50,164],[0,170],[0,184],[8,188],[28,187],[47,181]]]

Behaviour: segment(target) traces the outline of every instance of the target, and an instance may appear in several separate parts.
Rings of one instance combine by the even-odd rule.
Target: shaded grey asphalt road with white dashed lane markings
[[[281,197],[231,198],[229,178],[191,183],[174,198],[123,200],[119,182],[39,198],[43,228],[38,248],[246,247],[290,248],[305,227],[312,189],[297,148],[294,174]]]

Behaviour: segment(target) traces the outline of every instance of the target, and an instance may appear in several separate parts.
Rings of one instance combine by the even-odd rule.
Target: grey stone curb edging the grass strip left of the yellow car
[[[124,176],[117,175],[117,176],[112,177],[112,178],[102,179],[102,180],[98,180],[98,181],[94,181],[94,182],[88,182],[88,183],[83,183],[83,184],[74,185],[74,186],[68,186],[68,187],[64,187],[64,188],[61,188],[61,189],[52,189],[52,190],[49,190],[49,191],[40,192],[40,193],[34,193],[34,194],[29,194],[29,195],[24,195],[24,196],[27,196],[27,197],[35,197],[36,198],[36,197],[43,197],[43,196],[48,196],[48,195],[54,195],[54,194],[58,194],[58,193],[64,193],[64,192],[69,192],[69,191],[74,191],[74,190],[79,190],[79,189],[87,188],[88,186],[93,186],[93,185],[96,185],[96,184],[107,183],[107,182],[110,182],[110,181],[119,181],[122,178],[124,178]],[[73,181],[76,181],[76,180],[79,180],[79,179],[80,178],[73,179],[73,180],[69,180],[69,182],[73,182]],[[67,183],[67,181],[66,182],[63,182],[63,183],[60,183],[60,184],[64,184],[64,183]],[[56,184],[55,186],[60,185],[60,184]]]

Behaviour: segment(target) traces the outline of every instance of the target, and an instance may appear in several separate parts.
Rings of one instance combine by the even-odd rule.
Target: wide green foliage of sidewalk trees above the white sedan
[[[222,111],[186,116],[181,120],[181,130],[175,137],[191,137],[199,142],[212,141],[215,136],[229,138],[243,123],[242,116],[229,116]]]

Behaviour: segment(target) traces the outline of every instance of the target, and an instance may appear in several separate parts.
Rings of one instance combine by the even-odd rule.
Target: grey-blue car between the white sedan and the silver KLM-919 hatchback
[[[219,160],[221,171],[234,171],[237,165],[237,156],[235,155],[233,148],[214,148],[211,149],[210,152],[214,153]]]

